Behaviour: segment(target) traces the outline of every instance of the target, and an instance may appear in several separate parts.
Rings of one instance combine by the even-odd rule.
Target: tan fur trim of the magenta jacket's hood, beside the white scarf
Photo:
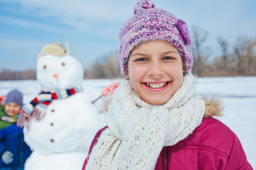
[[[108,106],[110,105],[111,96],[106,96],[102,98],[102,106],[100,109],[100,113],[105,113],[108,110]],[[204,118],[213,118],[213,116],[221,116],[223,115],[223,101],[218,96],[203,96],[203,100],[206,102],[206,112],[204,114]]]

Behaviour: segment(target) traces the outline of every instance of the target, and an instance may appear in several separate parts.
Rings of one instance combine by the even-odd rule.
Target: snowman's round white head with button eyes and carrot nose
[[[82,64],[70,55],[38,58],[36,78],[43,91],[70,89],[82,83]]]

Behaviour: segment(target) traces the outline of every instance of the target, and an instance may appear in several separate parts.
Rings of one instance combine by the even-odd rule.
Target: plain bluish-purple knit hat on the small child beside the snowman
[[[13,90],[10,91],[7,95],[6,98],[4,99],[4,105],[6,105],[7,103],[11,103],[14,102],[16,104],[18,104],[19,106],[23,105],[23,94],[21,93],[21,91],[18,90]]]

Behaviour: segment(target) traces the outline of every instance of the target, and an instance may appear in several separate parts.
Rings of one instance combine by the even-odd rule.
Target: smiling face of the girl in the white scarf
[[[164,40],[149,40],[132,50],[126,77],[142,100],[162,105],[181,87],[183,72],[181,55],[174,45]]]

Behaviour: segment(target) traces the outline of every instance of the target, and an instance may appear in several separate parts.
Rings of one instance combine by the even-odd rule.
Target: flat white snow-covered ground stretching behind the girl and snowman
[[[82,87],[93,101],[113,81],[118,79],[88,79],[82,82]],[[248,161],[256,169],[256,77],[198,78],[196,86],[199,94],[216,94],[223,99],[225,109],[218,119],[238,135]],[[41,90],[36,80],[0,81],[0,95],[12,89],[23,92],[24,103]]]

